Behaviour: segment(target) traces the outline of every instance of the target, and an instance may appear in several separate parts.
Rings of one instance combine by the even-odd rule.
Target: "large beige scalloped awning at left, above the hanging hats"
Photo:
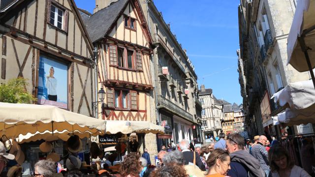
[[[106,121],[57,108],[0,102],[0,136],[16,138],[36,132],[59,131],[104,133]]]

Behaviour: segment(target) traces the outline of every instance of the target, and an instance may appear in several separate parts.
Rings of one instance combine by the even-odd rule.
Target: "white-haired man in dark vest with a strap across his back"
[[[191,152],[189,150],[189,141],[188,140],[182,140],[179,143],[179,147],[182,149],[183,152],[183,156],[184,156],[184,164],[188,165],[189,162],[193,163],[193,153],[195,153],[195,161],[196,161],[196,165],[200,168],[200,170],[205,171],[206,167],[205,165],[202,163],[199,154],[197,154],[197,152]]]

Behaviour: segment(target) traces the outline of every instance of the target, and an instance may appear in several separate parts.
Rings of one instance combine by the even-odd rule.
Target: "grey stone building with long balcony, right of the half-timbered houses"
[[[169,135],[158,139],[158,148],[183,139],[200,142],[201,103],[194,66],[153,0],[140,3],[155,47],[151,68],[157,122],[165,125]]]

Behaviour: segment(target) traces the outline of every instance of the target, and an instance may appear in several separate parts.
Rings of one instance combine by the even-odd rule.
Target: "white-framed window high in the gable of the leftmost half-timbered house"
[[[64,10],[62,6],[52,3],[52,0],[48,0],[47,23],[57,27],[58,29],[67,31],[68,16],[68,10]]]

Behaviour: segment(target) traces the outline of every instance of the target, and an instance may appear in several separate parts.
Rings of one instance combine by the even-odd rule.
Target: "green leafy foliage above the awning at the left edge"
[[[32,103],[36,98],[25,89],[27,79],[19,77],[11,79],[6,84],[0,85],[0,102],[6,103]]]

